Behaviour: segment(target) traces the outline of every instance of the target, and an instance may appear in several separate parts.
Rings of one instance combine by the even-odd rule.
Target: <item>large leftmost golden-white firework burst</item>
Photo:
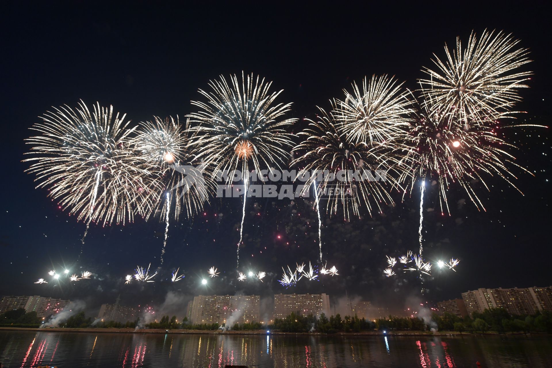
[[[33,146],[24,159],[28,173],[36,175],[37,188],[46,188],[63,210],[77,220],[110,225],[146,214],[152,203],[149,166],[128,142],[125,115],[94,105],[91,114],[81,101],[77,109],[62,106],[42,116],[31,127],[40,135],[26,139]],[[152,188],[152,186],[154,188]]]

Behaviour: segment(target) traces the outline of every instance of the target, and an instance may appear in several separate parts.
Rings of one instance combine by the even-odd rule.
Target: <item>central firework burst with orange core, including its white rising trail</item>
[[[230,76],[230,83],[220,76],[209,82],[211,92],[199,90],[206,102],[192,102],[200,111],[189,115],[190,121],[198,124],[192,127],[194,139],[190,145],[197,158],[216,172],[238,169],[243,174],[245,190],[236,268],[240,265],[250,164],[256,172],[272,164],[279,167],[288,156],[284,148],[292,145],[293,134],[288,130],[297,121],[285,118],[291,104],[275,104],[282,90],[270,93],[270,84],[253,74],[246,77],[243,72],[241,83],[236,75]]]

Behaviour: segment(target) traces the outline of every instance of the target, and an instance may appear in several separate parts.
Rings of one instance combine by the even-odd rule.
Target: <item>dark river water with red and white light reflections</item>
[[[552,367],[550,337],[0,331],[4,367]]]

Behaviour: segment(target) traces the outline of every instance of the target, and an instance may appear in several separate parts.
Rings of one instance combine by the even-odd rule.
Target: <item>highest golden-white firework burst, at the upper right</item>
[[[527,88],[532,72],[519,71],[530,62],[527,49],[517,49],[512,35],[485,30],[481,37],[472,32],[464,48],[460,38],[455,49],[445,45],[446,58],[432,60],[436,70],[423,68],[428,79],[420,79],[424,94],[431,101],[432,113],[452,115],[453,122],[493,124],[508,116],[521,97],[518,89]],[[429,101],[427,101],[429,102]]]

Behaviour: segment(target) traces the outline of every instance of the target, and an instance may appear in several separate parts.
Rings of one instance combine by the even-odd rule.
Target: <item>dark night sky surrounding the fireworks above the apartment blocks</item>
[[[368,4],[368,3],[367,3]],[[341,97],[342,88],[365,75],[390,74],[415,89],[431,66],[432,52],[443,55],[444,42],[457,35],[466,40],[472,29],[505,30],[522,40],[534,60],[530,89],[518,119],[550,125],[550,34],[548,13],[538,8],[480,8],[464,2],[449,8],[388,8],[373,5],[319,4],[284,6],[233,3],[205,8],[159,4],[75,2],[4,4],[2,10],[2,206],[0,218],[1,295],[42,295],[82,299],[89,308],[113,302],[162,303],[169,291],[199,294],[325,292],[349,295],[402,308],[409,296],[420,295],[413,274],[386,279],[385,254],[417,250],[419,192],[383,214],[354,218],[325,216],[324,258],[339,276],[302,282],[285,290],[277,283],[281,266],[317,259],[317,219],[302,199],[252,199],[245,221],[243,269],[264,270],[264,284],[235,287],[240,200],[218,200],[191,221],[172,221],[161,274],[155,284],[124,285],[137,264],[156,268],[164,223],[154,218],[126,226],[92,226],[81,261],[76,262],[85,225],[59,210],[46,191],[34,189],[34,177],[20,162],[28,149],[28,128],[50,106],[76,106],[83,99],[113,104],[133,124],[152,115],[176,116],[195,111],[219,74],[261,74],[284,89],[280,102],[293,102],[293,116],[312,118],[316,106]],[[455,6],[460,6],[456,8]],[[294,132],[297,132],[297,127]],[[516,185],[490,179],[491,193],[479,188],[486,212],[479,212],[465,193],[450,190],[451,216],[442,216],[429,189],[424,209],[424,257],[460,259],[458,272],[433,272],[424,300],[460,297],[479,287],[529,287],[552,284],[550,273],[550,130],[511,129],[506,136],[520,147],[519,164],[532,173],[519,174]],[[436,209],[431,211],[431,209]],[[221,216],[222,215],[222,216]],[[279,238],[278,238],[279,236]],[[89,270],[92,280],[51,281],[35,285],[47,271],[64,266]],[[221,278],[200,285],[210,266]],[[82,267],[82,268],[81,268]],[[161,282],[180,267],[185,278]],[[49,277],[47,277],[50,279]]]

